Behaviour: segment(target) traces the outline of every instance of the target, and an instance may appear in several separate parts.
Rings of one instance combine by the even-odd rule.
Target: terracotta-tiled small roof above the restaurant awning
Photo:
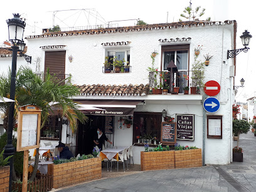
[[[81,95],[120,95],[120,96],[143,96],[149,93],[149,84],[146,85],[75,85]]]

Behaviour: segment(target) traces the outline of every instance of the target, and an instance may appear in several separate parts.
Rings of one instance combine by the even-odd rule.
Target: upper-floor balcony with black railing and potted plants
[[[167,93],[175,94],[176,87],[179,87],[177,93],[184,93],[184,88],[189,88],[191,93],[200,94],[202,78],[201,71],[149,72],[150,93],[155,94],[158,90],[156,94],[161,94],[163,90],[168,90]]]

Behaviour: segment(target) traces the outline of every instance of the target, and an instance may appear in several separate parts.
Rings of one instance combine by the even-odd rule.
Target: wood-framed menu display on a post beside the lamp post
[[[41,109],[35,105],[18,108],[17,151],[40,147]]]

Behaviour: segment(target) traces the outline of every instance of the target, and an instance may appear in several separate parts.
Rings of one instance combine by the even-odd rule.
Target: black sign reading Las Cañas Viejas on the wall
[[[177,139],[194,141],[195,139],[195,115],[176,114]]]

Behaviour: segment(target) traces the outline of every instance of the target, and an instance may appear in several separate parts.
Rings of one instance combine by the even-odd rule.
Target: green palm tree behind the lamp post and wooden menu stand
[[[18,106],[27,104],[41,107],[42,128],[50,115],[49,112],[52,111],[52,107],[55,107],[62,117],[67,117],[70,121],[70,129],[74,132],[77,128],[77,119],[84,123],[87,117],[78,110],[78,105],[72,100],[73,96],[79,94],[77,87],[64,83],[70,78],[56,82],[56,77],[50,75],[49,70],[47,70],[45,77],[41,78],[33,73],[30,68],[21,67],[16,75],[16,109],[18,109]],[[8,97],[9,95],[9,82],[10,74],[8,77],[4,77],[4,75],[0,77],[0,95],[2,97]],[[4,111],[5,118],[8,119],[8,107],[3,105],[2,109],[6,109]],[[31,175],[31,180],[35,178],[38,161],[38,149],[36,149],[35,171]]]

